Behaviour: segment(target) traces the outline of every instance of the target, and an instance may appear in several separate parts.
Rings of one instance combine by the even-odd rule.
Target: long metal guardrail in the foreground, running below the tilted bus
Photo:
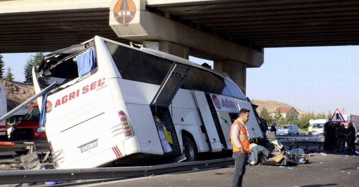
[[[217,166],[226,166],[231,164],[234,164],[233,158],[140,167],[0,171],[0,184],[137,177],[151,174],[191,170],[194,168],[203,169]]]

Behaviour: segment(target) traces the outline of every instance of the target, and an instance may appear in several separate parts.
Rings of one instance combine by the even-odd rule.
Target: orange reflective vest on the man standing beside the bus
[[[234,142],[232,140],[232,129],[233,129],[234,125],[238,125],[238,130],[239,130],[238,139],[239,139],[239,142],[241,143],[244,150],[246,150],[248,153],[250,153],[251,152],[251,149],[249,147],[250,142],[249,142],[246,126],[241,121],[239,121],[238,119],[236,119],[236,121],[233,122],[232,128],[230,128],[230,137],[231,137],[230,143],[232,144],[233,152],[240,152],[241,151],[241,149],[239,149],[236,146],[236,144],[234,144]],[[243,134],[241,134],[240,131],[242,131]]]

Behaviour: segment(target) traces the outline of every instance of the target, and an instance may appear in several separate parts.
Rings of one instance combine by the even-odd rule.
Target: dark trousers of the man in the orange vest
[[[232,186],[241,187],[243,176],[244,173],[246,172],[248,154],[241,152],[233,152],[233,158],[234,158],[234,173],[232,179]]]

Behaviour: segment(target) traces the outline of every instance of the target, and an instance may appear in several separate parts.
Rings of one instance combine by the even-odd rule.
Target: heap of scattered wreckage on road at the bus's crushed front
[[[250,145],[251,154],[248,157],[248,163],[253,165],[277,165],[277,166],[295,166],[297,164],[306,164],[309,162],[309,155],[303,149],[286,148],[278,139],[274,132],[266,133],[268,142],[266,147],[252,143]]]

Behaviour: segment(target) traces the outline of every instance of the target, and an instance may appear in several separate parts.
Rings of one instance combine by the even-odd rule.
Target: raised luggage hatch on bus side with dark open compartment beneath
[[[166,77],[161,83],[157,93],[151,101],[151,111],[154,116],[154,120],[160,119],[163,122],[166,130],[171,133],[172,136],[172,153],[181,153],[180,143],[178,142],[176,130],[174,129],[173,120],[169,112],[169,105],[172,103],[174,96],[183,84],[187,73],[191,67],[185,64],[173,63],[169,69]],[[166,153],[164,151],[164,153]]]

